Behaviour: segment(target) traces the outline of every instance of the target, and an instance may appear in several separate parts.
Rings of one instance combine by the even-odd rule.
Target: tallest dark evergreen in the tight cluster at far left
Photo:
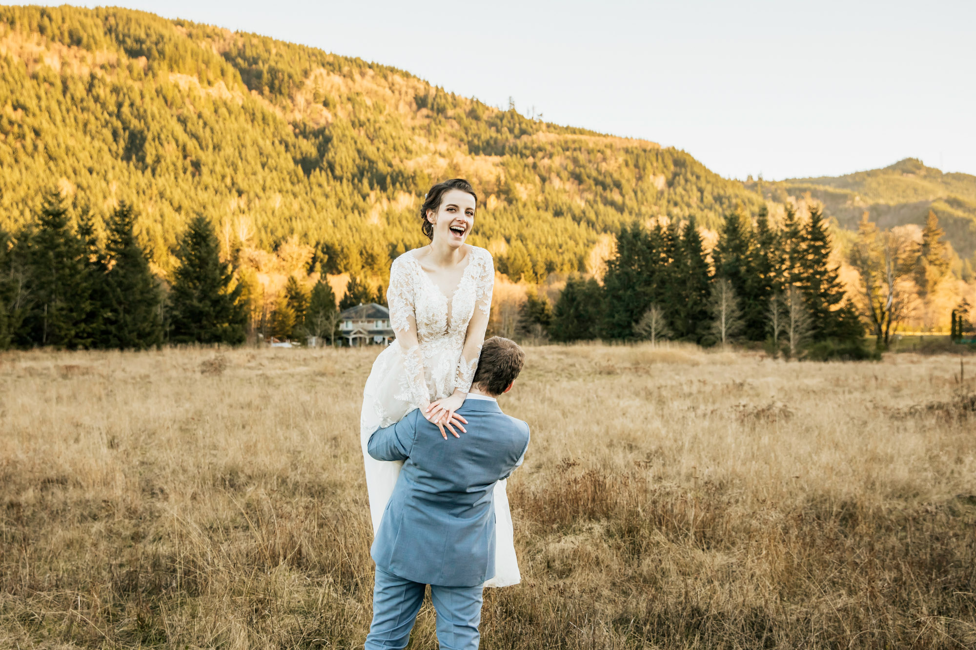
[[[67,208],[57,191],[44,197],[44,207],[29,231],[23,251],[29,308],[20,324],[20,345],[88,347],[91,268],[86,249],[71,228]]]

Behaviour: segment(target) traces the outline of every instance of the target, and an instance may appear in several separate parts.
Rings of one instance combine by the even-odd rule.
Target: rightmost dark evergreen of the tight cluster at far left
[[[103,310],[99,345],[121,349],[161,345],[162,295],[136,239],[132,207],[122,203],[106,225],[107,270],[100,277]]]

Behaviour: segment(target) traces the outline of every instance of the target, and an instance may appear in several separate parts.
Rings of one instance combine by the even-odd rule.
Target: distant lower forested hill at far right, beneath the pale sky
[[[944,174],[920,160],[839,177],[790,179],[779,183],[746,183],[774,200],[806,192],[824,203],[825,212],[844,228],[857,229],[867,211],[880,227],[923,225],[931,210],[946,230],[963,263],[976,260],[976,176]]]

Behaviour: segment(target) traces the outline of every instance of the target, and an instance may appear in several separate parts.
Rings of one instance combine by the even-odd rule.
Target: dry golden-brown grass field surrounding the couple
[[[361,647],[376,352],[0,355],[0,647]],[[529,348],[524,582],[486,592],[482,647],[976,647],[958,371]]]

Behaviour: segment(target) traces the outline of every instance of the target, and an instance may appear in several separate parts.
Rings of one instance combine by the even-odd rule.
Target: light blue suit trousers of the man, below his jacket
[[[424,602],[427,585],[404,580],[377,567],[373,587],[373,624],[365,650],[401,650],[410,641],[410,630]],[[430,600],[437,612],[440,650],[476,650],[480,636],[481,591],[476,587],[430,586]]]

